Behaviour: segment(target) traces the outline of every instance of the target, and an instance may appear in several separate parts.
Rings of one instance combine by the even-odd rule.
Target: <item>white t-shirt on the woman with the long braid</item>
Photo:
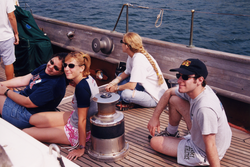
[[[155,62],[159,74],[162,75],[157,62],[152,56],[151,58]],[[141,84],[145,91],[148,92],[157,103],[164,92],[168,89],[165,81],[163,84],[158,85],[158,76],[153,66],[142,53],[135,53],[132,58],[128,56],[126,70],[124,72],[125,74],[130,75],[130,82]]]

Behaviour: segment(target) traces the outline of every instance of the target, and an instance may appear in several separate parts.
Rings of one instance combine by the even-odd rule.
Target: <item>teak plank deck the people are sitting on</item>
[[[0,81],[4,80],[4,68],[1,63]],[[73,92],[74,88],[68,86],[65,98],[58,107],[60,111],[72,111],[73,108],[70,102]],[[129,143],[129,154],[124,159],[113,163],[104,163],[93,160],[87,154],[84,154],[74,162],[79,166],[182,166],[177,164],[176,158],[157,153],[151,149],[148,141],[149,132],[147,123],[153,111],[154,108],[134,108],[123,112],[125,139]],[[168,124],[167,112],[161,115],[160,121],[161,130],[163,130]],[[181,135],[187,134],[184,121],[181,121],[179,131]],[[235,128],[232,128],[232,132],[232,143],[221,161],[221,166],[250,166],[250,134]],[[90,145],[90,143],[88,143],[88,145]],[[66,156],[68,150],[63,148],[65,145],[59,146],[61,148],[61,154]]]

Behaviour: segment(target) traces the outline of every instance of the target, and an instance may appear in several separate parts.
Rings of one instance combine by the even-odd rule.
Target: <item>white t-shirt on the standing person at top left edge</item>
[[[15,10],[13,0],[0,0],[0,41],[6,41],[14,37],[14,33],[8,18],[8,13]]]

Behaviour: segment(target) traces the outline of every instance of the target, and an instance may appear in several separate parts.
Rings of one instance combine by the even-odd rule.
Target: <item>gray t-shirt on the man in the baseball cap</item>
[[[190,133],[195,146],[205,152],[202,135],[216,134],[217,151],[219,159],[222,159],[230,146],[232,131],[219,98],[209,86],[206,86],[195,99],[191,99],[186,93],[180,93],[178,89],[175,93],[190,103]]]

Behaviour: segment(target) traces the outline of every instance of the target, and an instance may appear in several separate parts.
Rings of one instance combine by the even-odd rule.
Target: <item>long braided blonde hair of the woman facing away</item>
[[[145,55],[145,57],[148,59],[148,61],[154,68],[156,75],[158,76],[158,84],[159,85],[163,84],[164,82],[163,76],[162,74],[159,73],[159,70],[156,67],[155,62],[153,61],[149,53],[144,49],[140,35],[134,32],[128,32],[124,35],[123,40],[125,44],[128,45],[128,47],[132,52],[134,53],[140,52],[143,55]]]

